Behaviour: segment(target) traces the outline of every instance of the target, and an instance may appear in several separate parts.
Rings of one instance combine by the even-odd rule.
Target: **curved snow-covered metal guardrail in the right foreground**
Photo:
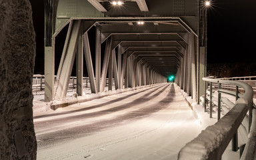
[[[217,106],[218,106],[218,121],[215,125],[211,125],[203,130],[195,139],[187,143],[185,147],[179,151],[178,159],[221,159],[221,156],[231,139],[233,151],[237,151],[237,129],[243,122],[247,111],[248,123],[247,134],[248,139],[241,155],[241,159],[255,159],[256,151],[256,110],[253,107],[253,89],[250,85],[239,81],[227,81],[221,79],[203,78],[205,81],[205,111],[207,101],[207,87],[209,83],[209,101],[210,101],[210,117],[212,117],[211,105],[213,104],[213,83],[218,85]],[[222,85],[233,85],[236,91],[222,89]],[[244,93],[239,93],[239,87],[244,90]],[[229,99],[221,98],[221,93],[227,93],[236,97],[235,104]],[[221,101],[231,106],[221,118]]]

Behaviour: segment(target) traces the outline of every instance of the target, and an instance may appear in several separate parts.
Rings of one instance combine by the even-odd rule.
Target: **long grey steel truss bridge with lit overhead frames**
[[[111,90],[112,79],[115,89],[123,89],[163,83],[175,75],[175,83],[199,103],[199,97],[205,94],[202,79],[206,76],[207,55],[205,1],[123,2],[122,6],[113,6],[105,0],[45,0],[45,101],[65,99],[75,57],[77,94],[83,94],[85,57],[92,93],[104,90],[107,77]],[[55,40],[67,25],[55,78]],[[90,41],[88,35],[92,28],[95,41]],[[91,51],[90,43],[95,43],[95,52]],[[251,106],[249,103],[247,107]],[[222,150],[214,150],[209,156],[218,158]]]

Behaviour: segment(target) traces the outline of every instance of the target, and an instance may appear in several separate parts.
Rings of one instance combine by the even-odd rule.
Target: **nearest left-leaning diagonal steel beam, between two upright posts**
[[[91,60],[91,49],[89,45],[88,33],[86,32],[83,35],[83,44],[85,50],[85,61],[87,67],[87,73],[90,80],[91,93],[97,93],[94,71],[93,71],[93,62]]]

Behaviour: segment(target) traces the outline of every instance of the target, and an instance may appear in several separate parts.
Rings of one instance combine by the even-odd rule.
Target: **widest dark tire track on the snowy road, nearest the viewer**
[[[133,103],[147,103],[147,100],[160,95],[161,93],[163,93],[165,91],[165,89],[167,89],[167,87],[169,87],[169,85],[165,85],[165,87],[163,89],[161,89],[161,91],[158,91],[157,93],[151,95],[150,97],[148,97],[148,99],[143,99],[143,100],[135,99],[135,101]],[[81,137],[84,135],[90,135],[97,131],[101,131],[102,129],[106,129],[109,127],[115,127],[125,121],[135,121],[136,119],[141,119],[145,116],[149,116],[152,113],[160,111],[161,109],[165,109],[168,106],[168,105],[165,105],[165,103],[170,103],[172,101],[171,96],[173,96],[174,93],[175,93],[175,89],[174,89],[173,85],[171,85],[171,89],[169,90],[168,95],[166,95],[166,97],[163,100],[159,101],[159,103],[161,103],[162,106],[159,106],[156,103],[154,103],[153,105],[145,104],[147,107],[143,107],[142,109],[139,109],[137,111],[131,111],[129,113],[126,113],[125,115],[121,115],[121,116],[113,118],[113,119],[107,119],[105,121],[98,121],[98,122],[95,122],[95,123],[92,123],[89,125],[72,127],[69,129],[63,129],[61,131],[56,131],[54,133],[43,135],[43,136],[39,135],[39,136],[37,136],[38,139],[41,140],[41,142],[39,142],[39,147],[41,147],[41,146],[47,147],[48,145],[51,145],[54,142],[63,141],[65,139],[70,139],[71,136],[73,136],[73,138],[77,138],[77,137]],[[151,93],[147,93],[145,95],[147,96],[150,94]],[[131,105],[131,104],[129,104],[129,105]],[[129,105],[125,105],[125,107],[129,107]],[[119,107],[122,107],[122,106],[119,106]],[[115,107],[115,109],[110,109],[109,112],[110,111],[112,111],[112,112],[118,111],[119,107]],[[122,107],[122,109],[125,107]],[[102,113],[97,113],[97,114],[102,114]],[[83,116],[81,116],[79,118],[82,118],[82,117]]]

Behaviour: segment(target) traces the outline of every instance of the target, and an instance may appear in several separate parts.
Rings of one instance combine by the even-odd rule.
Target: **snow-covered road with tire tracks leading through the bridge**
[[[174,83],[163,83],[34,117],[37,159],[177,159],[201,132]]]

